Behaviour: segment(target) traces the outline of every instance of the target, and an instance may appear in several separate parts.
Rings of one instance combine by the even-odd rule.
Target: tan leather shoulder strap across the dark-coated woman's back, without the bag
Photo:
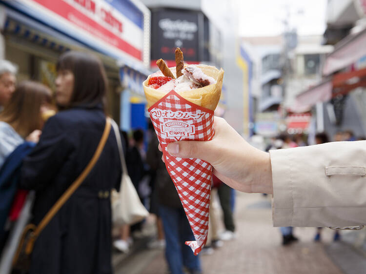
[[[102,135],[102,138],[98,144],[98,147],[91,158],[88,165],[85,167],[85,169],[82,171],[82,173],[79,175],[79,177],[69,186],[69,188],[65,191],[64,194],[57,200],[57,202],[53,205],[53,207],[47,212],[47,214],[43,217],[39,225],[37,226],[36,230],[34,231],[34,237],[36,238],[38,235],[40,235],[41,231],[44,229],[44,227],[49,223],[49,221],[53,218],[53,216],[60,210],[62,205],[67,201],[68,198],[77,190],[77,188],[81,185],[83,180],[86,178],[86,176],[89,175],[90,171],[93,169],[94,165],[98,161],[99,157],[101,156],[101,153],[103,151],[104,145],[108,139],[109,132],[111,130],[111,122],[110,118],[107,117],[105,119],[105,127],[104,132]]]

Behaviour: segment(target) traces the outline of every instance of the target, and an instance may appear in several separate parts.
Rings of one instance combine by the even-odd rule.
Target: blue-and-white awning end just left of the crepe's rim
[[[141,70],[135,70],[127,65],[121,66],[121,84],[124,88],[129,89],[131,92],[144,97],[145,95],[143,92],[142,82],[149,74],[151,74],[149,70],[142,72]]]

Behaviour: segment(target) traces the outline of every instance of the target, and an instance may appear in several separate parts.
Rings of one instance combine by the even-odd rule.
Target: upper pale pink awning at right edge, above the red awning
[[[338,42],[325,58],[323,75],[330,75],[366,56],[366,29]]]

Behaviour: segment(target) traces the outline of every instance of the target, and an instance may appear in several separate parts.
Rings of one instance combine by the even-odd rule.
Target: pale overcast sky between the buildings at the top
[[[321,35],[325,31],[326,0],[237,0],[237,3],[242,37],[278,35],[285,29],[286,18],[299,35]]]

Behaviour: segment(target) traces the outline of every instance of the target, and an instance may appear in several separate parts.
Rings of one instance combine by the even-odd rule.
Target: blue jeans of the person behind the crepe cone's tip
[[[183,266],[190,272],[201,272],[199,255],[195,256],[185,241],[194,241],[193,232],[183,208],[159,205],[163,220],[166,248],[165,258],[172,274],[183,274]]]

